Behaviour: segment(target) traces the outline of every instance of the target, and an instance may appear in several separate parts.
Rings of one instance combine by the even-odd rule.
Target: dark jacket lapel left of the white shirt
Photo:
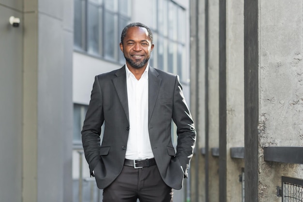
[[[125,65],[120,68],[115,75],[117,77],[113,78],[112,81],[129,123]]]

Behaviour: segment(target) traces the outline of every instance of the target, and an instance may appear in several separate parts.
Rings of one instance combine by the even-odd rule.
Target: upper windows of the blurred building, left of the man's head
[[[124,62],[120,33],[130,22],[131,0],[74,0],[74,47],[113,62]]]

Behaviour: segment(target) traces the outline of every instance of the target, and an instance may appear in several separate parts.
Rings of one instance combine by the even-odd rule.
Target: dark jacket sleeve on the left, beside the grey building
[[[100,134],[104,123],[102,91],[98,76],[95,77],[91,91],[91,101],[83,123],[82,144],[85,158],[89,164],[91,175],[100,162]]]

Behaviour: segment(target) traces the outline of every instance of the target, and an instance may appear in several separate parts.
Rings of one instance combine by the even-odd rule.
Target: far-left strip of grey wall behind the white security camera
[[[9,24],[21,18],[21,27]],[[22,0],[0,0],[0,201],[22,193]]]

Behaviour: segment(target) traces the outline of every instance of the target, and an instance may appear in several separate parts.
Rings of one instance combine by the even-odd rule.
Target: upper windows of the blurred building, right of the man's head
[[[157,68],[178,74],[181,80],[183,69],[186,69],[186,11],[171,0],[158,0],[157,27],[153,30],[157,35]]]

